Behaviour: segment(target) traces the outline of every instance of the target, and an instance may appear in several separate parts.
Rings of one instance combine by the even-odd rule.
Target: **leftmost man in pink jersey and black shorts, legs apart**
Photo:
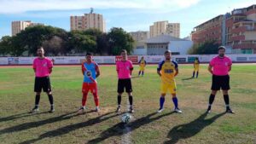
[[[32,112],[38,112],[38,105],[40,101],[40,95],[42,89],[47,93],[49,97],[50,110],[49,112],[55,112],[53,95],[51,93],[49,74],[52,72],[53,63],[47,57],[44,56],[44,48],[38,48],[38,58],[33,60],[33,69],[35,72],[35,85],[34,91],[36,92],[35,107]]]

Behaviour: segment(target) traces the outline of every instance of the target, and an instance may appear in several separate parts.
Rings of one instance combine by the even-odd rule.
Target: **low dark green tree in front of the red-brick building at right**
[[[201,44],[194,44],[191,49],[189,49],[189,55],[209,55],[217,54],[219,44],[216,41],[207,41]]]

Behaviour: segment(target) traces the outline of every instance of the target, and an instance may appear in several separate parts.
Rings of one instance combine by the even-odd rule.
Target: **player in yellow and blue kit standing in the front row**
[[[165,57],[166,60],[162,60],[157,68],[157,73],[161,78],[160,109],[158,112],[162,112],[164,110],[165,96],[169,91],[172,94],[172,101],[175,106],[174,112],[182,113],[182,111],[177,107],[176,83],[174,79],[178,73],[177,62],[171,60],[170,50],[166,50]]]

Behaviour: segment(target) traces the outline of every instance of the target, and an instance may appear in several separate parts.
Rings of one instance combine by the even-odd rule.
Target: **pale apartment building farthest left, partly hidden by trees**
[[[33,23],[31,20],[26,21],[12,21],[12,36],[25,30],[28,26],[44,26],[42,23]]]

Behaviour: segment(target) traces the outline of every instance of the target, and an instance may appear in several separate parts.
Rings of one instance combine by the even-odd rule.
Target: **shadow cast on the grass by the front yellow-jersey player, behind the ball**
[[[145,116],[143,118],[139,118],[135,121],[132,121],[129,124],[123,124],[123,123],[115,124],[115,125],[113,125],[113,127],[109,128],[108,130],[103,131],[100,137],[90,140],[87,143],[88,144],[100,143],[101,141],[104,141],[112,136],[125,135],[126,133],[129,133],[132,130],[136,130],[145,124],[149,124],[149,123],[153,122],[154,120],[171,115],[173,112],[168,112],[166,114],[159,115],[155,118],[151,118],[156,113],[157,112],[150,113],[147,116]],[[127,130],[127,127],[128,127],[128,130]]]

